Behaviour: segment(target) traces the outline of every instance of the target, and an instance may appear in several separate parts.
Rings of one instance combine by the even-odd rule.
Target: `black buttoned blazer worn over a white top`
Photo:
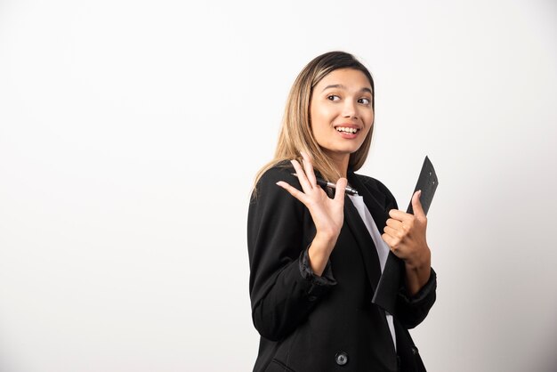
[[[392,313],[395,352],[385,312],[371,302],[381,269],[358,211],[345,197],[344,224],[327,274],[308,275],[303,255],[316,232],[311,214],[276,185],[286,181],[301,189],[292,172],[286,164],[271,168],[250,200],[249,290],[261,335],[254,371],[425,371],[408,328],[422,322],[435,302],[435,272],[412,297],[400,280]],[[350,172],[348,180],[383,231],[389,210],[397,208],[391,192],[370,177]]]

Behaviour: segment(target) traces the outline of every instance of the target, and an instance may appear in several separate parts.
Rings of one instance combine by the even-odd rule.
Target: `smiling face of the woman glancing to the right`
[[[358,69],[335,69],[315,85],[311,132],[329,157],[348,164],[373,124],[371,102],[371,85]]]

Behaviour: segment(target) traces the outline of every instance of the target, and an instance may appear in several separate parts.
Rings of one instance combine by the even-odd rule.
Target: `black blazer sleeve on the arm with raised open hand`
[[[278,181],[299,188],[290,171],[271,168],[257,184],[247,217],[252,318],[271,341],[288,336],[335,286],[330,263],[321,277],[308,267],[306,248],[315,234],[311,216]]]

